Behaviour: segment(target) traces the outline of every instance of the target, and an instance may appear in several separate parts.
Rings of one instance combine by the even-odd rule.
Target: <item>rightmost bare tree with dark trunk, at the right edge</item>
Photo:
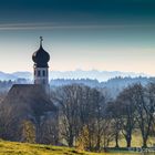
[[[148,90],[142,84],[135,84],[132,87],[133,100],[136,111],[136,121],[143,138],[143,147],[147,147],[147,140],[151,134],[151,126],[154,114],[154,97],[152,97],[152,87]]]

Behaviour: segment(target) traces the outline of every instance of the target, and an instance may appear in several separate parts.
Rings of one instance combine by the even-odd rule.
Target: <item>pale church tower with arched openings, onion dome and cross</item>
[[[42,85],[44,91],[49,94],[50,86],[49,86],[48,62],[50,61],[50,54],[42,48],[42,41],[43,41],[43,38],[40,37],[40,48],[32,55],[32,60],[34,62],[33,76],[34,76],[34,84]]]

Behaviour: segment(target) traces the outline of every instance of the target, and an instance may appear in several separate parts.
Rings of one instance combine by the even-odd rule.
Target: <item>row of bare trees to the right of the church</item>
[[[108,147],[120,137],[131,147],[137,131],[147,147],[155,136],[155,84],[134,84],[124,89],[115,100],[106,93],[84,85],[66,85],[52,93],[60,106],[60,140],[69,146],[89,151]]]

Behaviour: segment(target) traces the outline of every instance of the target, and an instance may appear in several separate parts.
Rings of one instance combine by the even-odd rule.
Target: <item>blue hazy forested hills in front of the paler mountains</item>
[[[90,87],[97,87],[100,90],[106,90],[111,97],[117,96],[117,94],[128,85],[135,83],[141,83],[142,85],[147,85],[148,83],[155,83],[155,78],[121,78],[116,76],[110,79],[106,82],[99,82],[97,80],[92,79],[53,79],[50,81],[51,90],[54,90],[58,86],[70,85],[70,84],[84,84]],[[13,84],[31,84],[32,81],[27,79],[17,79],[16,81],[0,81],[0,92],[8,92]]]

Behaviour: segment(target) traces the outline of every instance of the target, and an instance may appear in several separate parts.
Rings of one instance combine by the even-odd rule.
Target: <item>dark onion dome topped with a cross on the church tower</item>
[[[48,68],[48,62],[50,61],[50,54],[42,48],[42,37],[40,37],[40,48],[32,55],[32,60],[37,68]]]

